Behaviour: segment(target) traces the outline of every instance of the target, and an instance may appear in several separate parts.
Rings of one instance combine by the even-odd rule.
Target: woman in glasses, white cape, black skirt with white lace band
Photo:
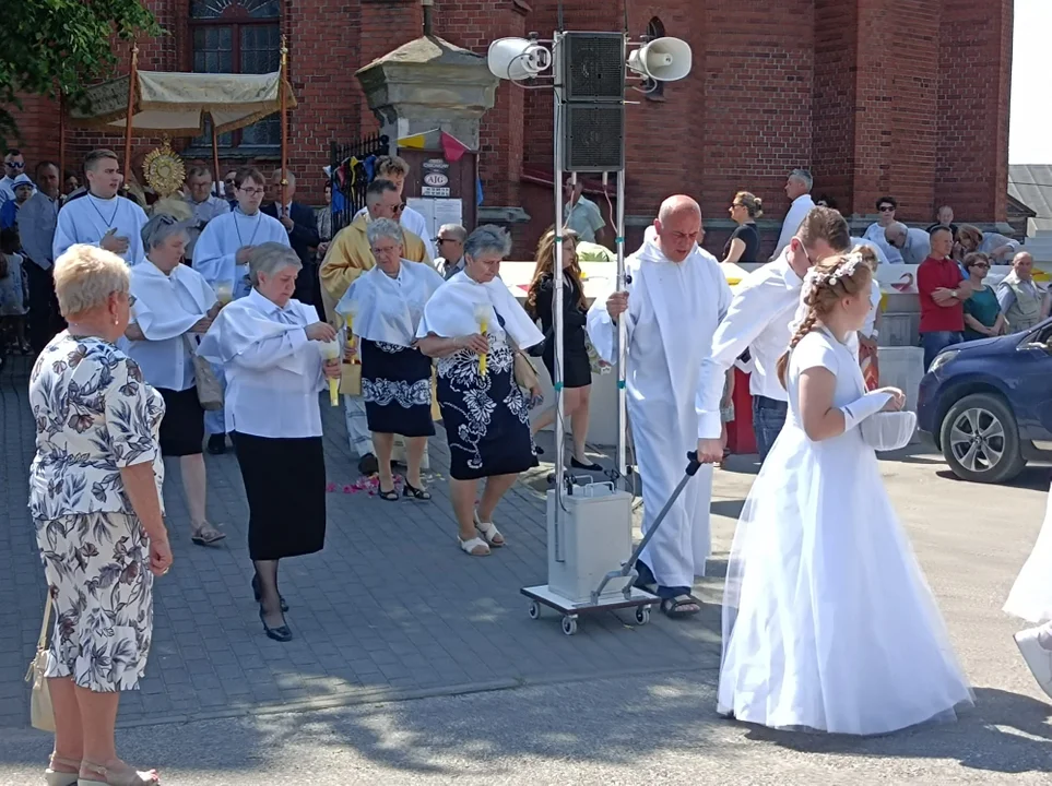
[[[429,500],[421,479],[432,420],[432,359],[416,348],[424,306],[445,283],[429,264],[402,259],[402,227],[390,218],[369,222],[366,237],[376,267],[363,273],[336,305],[362,341],[362,398],[373,432],[380,499],[397,502],[391,474],[394,434],[405,438],[403,497]]]

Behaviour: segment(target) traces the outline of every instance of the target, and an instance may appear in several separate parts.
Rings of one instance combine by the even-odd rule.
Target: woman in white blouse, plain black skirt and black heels
[[[336,332],[314,306],[292,298],[299,257],[265,242],[248,258],[252,289],[220,311],[198,355],[226,373],[227,432],[248,497],[248,555],[263,631],[293,638],[277,591],[277,563],[326,541],[326,458],[318,394],[340,377],[318,342]]]

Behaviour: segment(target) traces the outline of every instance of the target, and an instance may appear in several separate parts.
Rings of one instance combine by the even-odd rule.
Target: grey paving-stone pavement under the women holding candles
[[[22,681],[44,608],[44,573],[26,510],[33,424],[28,361],[0,371],[0,727],[27,725]],[[341,410],[322,406],[329,480],[356,476]],[[548,452],[551,455],[551,451]],[[154,639],[141,690],[121,699],[119,723],[138,725],[457,693],[553,680],[714,668],[719,609],[700,623],[630,612],[591,616],[565,636],[555,612],[527,615],[522,586],[543,584],[543,488],[548,468],[524,478],[495,516],[508,538],[488,558],[457,546],[441,476],[445,438],[430,443],[430,502],[330,493],[323,551],[282,562],[282,594],[296,639],[267,639],[249,580],[247,504],[232,453],[206,456],[210,519],[221,548],[190,544],[177,466],[165,504],[175,564],[155,584]],[[289,489],[289,493],[293,489]]]

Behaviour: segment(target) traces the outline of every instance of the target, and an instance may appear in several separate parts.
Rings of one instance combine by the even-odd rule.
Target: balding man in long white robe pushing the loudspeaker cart
[[[642,531],[653,526],[683,477],[697,444],[694,395],[717,325],[731,303],[731,288],[716,258],[698,248],[701,210],[689,196],[661,205],[642,247],[626,260],[626,293],[596,298],[588,334],[604,360],[616,358],[616,324],[625,319],[628,417],[642,478]],[[712,472],[702,467],[672,507],[640,558],[640,583],[662,597],[670,617],[697,614],[694,577],[709,556]]]

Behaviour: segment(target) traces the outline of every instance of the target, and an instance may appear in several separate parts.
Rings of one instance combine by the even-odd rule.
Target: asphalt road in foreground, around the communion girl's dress
[[[954,480],[924,453],[882,467],[974,686],[977,706],[957,724],[865,740],[773,733],[716,716],[711,667],[647,674],[643,660],[623,677],[135,726],[121,729],[120,750],[157,765],[165,784],[209,786],[1052,783],[1052,705],[1012,642],[1019,623],[1001,612],[1040,527],[1049,471],[990,488]],[[716,480],[717,559],[750,481],[733,469]],[[701,591],[714,600],[719,580]],[[0,784],[38,783],[49,746],[3,729]]]

